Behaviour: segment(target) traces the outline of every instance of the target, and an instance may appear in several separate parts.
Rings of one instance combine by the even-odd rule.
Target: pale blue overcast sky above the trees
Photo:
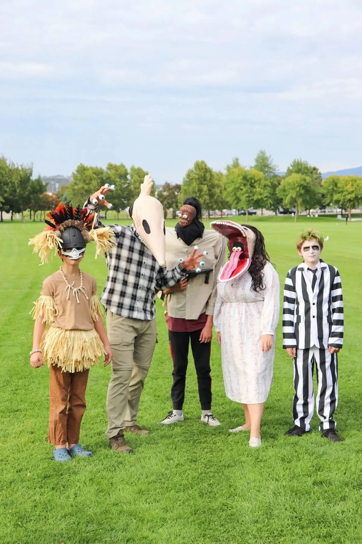
[[[361,0],[0,0],[0,154],[34,173],[362,164]]]

